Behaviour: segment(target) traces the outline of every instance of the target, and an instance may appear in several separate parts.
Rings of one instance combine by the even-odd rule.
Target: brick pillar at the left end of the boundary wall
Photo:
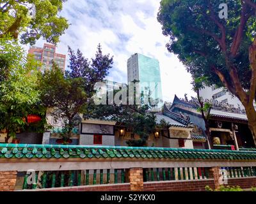
[[[17,171],[0,171],[0,191],[14,191]]]

